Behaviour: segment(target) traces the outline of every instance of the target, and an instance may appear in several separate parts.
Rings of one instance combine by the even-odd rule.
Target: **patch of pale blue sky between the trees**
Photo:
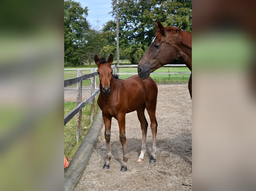
[[[110,11],[112,11],[111,0],[75,0],[76,2],[80,2],[82,7],[88,7],[88,16],[86,19],[91,24],[92,28],[96,30],[100,30],[102,25],[110,20],[114,20]],[[100,22],[97,22],[100,21]],[[99,28],[97,28],[99,27]]]

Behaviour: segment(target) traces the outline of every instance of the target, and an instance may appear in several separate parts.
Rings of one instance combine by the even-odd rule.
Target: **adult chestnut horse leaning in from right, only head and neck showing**
[[[157,31],[147,52],[139,61],[139,77],[147,79],[150,73],[177,58],[191,71],[188,90],[192,98],[192,33],[176,27],[163,27],[160,21],[153,23]]]

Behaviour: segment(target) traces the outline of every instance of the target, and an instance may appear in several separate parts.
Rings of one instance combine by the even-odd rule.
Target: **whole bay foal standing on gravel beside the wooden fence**
[[[119,138],[123,148],[123,164],[121,171],[127,170],[128,156],[126,153],[126,136],[125,136],[125,114],[137,111],[142,130],[142,147],[138,161],[143,161],[146,151],[146,136],[148,123],[145,118],[145,108],[150,117],[150,127],[153,135],[153,146],[150,163],[155,162],[156,154],[156,133],[157,122],[155,117],[157,86],[152,78],[142,80],[138,75],[132,76],[125,80],[115,79],[112,76],[111,64],[113,55],[110,54],[108,61],[104,58],[99,59],[94,56],[94,61],[98,66],[100,79],[100,95],[98,105],[102,110],[102,116],[105,124],[105,140],[107,145],[107,157],[103,169],[109,168],[111,158],[110,135],[112,117],[117,119],[119,125]]]

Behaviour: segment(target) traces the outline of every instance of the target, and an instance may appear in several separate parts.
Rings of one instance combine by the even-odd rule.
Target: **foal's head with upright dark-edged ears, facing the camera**
[[[113,62],[113,55],[110,54],[108,61],[105,58],[98,58],[97,55],[94,56],[94,61],[98,66],[98,75],[100,79],[100,84],[102,86],[102,92],[104,94],[110,93],[110,80],[112,77],[111,64]]]

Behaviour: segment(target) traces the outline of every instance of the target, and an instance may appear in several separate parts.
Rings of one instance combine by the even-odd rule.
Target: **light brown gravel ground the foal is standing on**
[[[120,172],[122,146],[117,120],[112,119],[110,169],[103,170],[106,155],[104,127],[75,191],[84,190],[191,190],[192,189],[192,100],[187,84],[157,84],[156,163],[150,164],[152,133],[147,133],[144,161],[137,159],[141,149],[141,129],[135,112],[126,114],[127,171]],[[65,91],[66,94],[74,91]],[[86,94],[84,94],[86,95]],[[65,95],[65,99],[68,96]],[[73,96],[74,97],[74,96]],[[71,98],[69,97],[69,100]],[[84,100],[84,98],[83,98]],[[146,113],[147,121],[150,122]],[[150,125],[150,124],[149,124]]]

